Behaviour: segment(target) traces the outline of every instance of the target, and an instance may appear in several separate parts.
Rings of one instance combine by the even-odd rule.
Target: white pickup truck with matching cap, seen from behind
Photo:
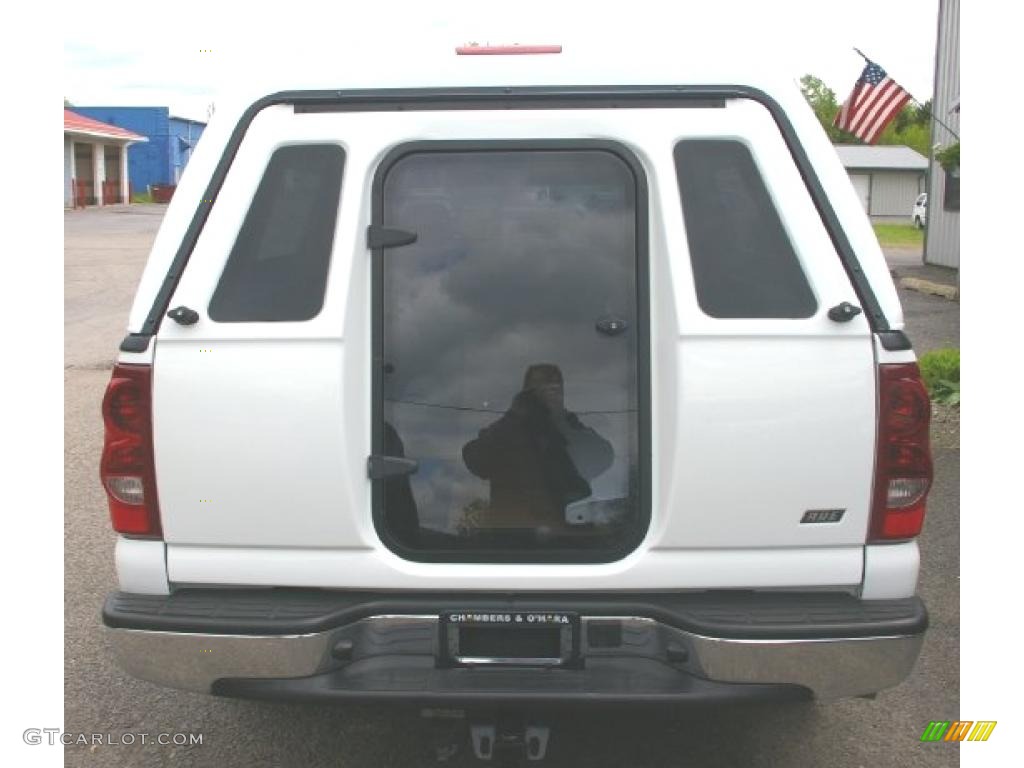
[[[120,664],[444,706],[899,683],[929,400],[800,91],[452,58],[219,105],[103,400]]]

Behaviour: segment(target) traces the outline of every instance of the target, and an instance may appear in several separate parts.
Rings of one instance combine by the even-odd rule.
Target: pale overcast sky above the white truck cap
[[[355,67],[372,77],[381,58],[404,55],[415,68],[417,50],[446,51],[469,41],[554,42],[566,51],[600,42],[608,56],[622,56],[624,68],[625,51],[656,46],[775,68],[794,79],[811,73],[841,101],[863,67],[856,46],[925,100],[937,8],[938,0],[162,4],[76,20],[65,38],[63,90],[76,104],[167,105],[202,120],[237,84],[258,87],[283,72],[315,71],[323,79]]]

